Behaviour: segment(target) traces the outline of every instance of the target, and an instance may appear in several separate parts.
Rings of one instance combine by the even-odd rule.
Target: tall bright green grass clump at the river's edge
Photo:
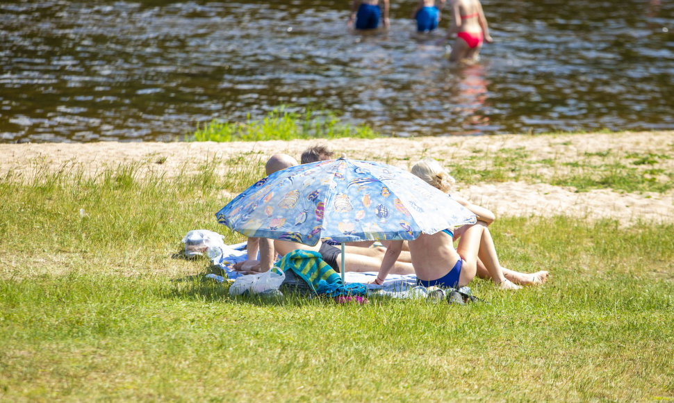
[[[275,108],[263,119],[247,115],[245,122],[214,119],[197,126],[197,131],[186,135],[188,141],[263,141],[293,140],[296,138],[375,138],[378,133],[368,126],[343,123],[329,110],[304,108],[297,112],[285,106]]]

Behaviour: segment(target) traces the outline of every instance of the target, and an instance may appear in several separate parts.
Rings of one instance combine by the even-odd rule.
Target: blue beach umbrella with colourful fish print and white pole
[[[475,214],[393,165],[339,158],[274,172],[216,213],[245,236],[316,245],[413,240],[421,233],[474,224]]]

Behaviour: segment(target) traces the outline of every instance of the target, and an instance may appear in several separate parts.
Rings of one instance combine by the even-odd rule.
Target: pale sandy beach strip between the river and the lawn
[[[409,169],[420,158],[438,161],[466,161],[479,169],[490,158],[505,151],[524,153],[529,161],[583,163],[589,156],[612,153],[658,156],[659,168],[674,172],[674,131],[586,133],[553,135],[483,135],[423,138],[377,138],[361,140],[272,140],[264,142],[94,142],[0,144],[0,177],[12,172],[31,178],[45,170],[78,167],[90,174],[124,164],[164,174],[195,172],[204,163],[245,156],[251,163],[283,152],[295,156],[307,147],[327,145],[337,156],[371,159]],[[482,163],[475,155],[484,156]],[[471,156],[473,158],[471,158]],[[217,174],[227,174],[228,164],[217,163]],[[536,174],[545,176],[545,167]],[[253,181],[254,179],[252,179]],[[498,216],[570,215],[588,220],[612,218],[622,224],[636,220],[653,223],[674,222],[674,191],[628,193],[611,189],[577,192],[575,188],[548,183],[499,181],[471,186],[457,184],[471,201],[490,208]],[[227,195],[227,190],[224,190]]]

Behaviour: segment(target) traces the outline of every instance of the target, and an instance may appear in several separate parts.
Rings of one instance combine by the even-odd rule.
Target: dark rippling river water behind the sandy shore
[[[281,105],[384,135],[674,129],[672,2],[484,0],[495,43],[468,67],[414,33],[416,1],[368,34],[349,3],[3,0],[0,142],[172,140]]]

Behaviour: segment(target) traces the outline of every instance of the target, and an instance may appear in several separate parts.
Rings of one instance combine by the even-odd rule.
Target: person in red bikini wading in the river
[[[452,22],[447,35],[438,40],[438,45],[452,38],[455,34],[457,39],[452,45],[450,61],[459,60],[474,61],[477,59],[482,42],[491,43],[487,19],[482,12],[482,4],[479,0],[450,0],[452,8]]]

